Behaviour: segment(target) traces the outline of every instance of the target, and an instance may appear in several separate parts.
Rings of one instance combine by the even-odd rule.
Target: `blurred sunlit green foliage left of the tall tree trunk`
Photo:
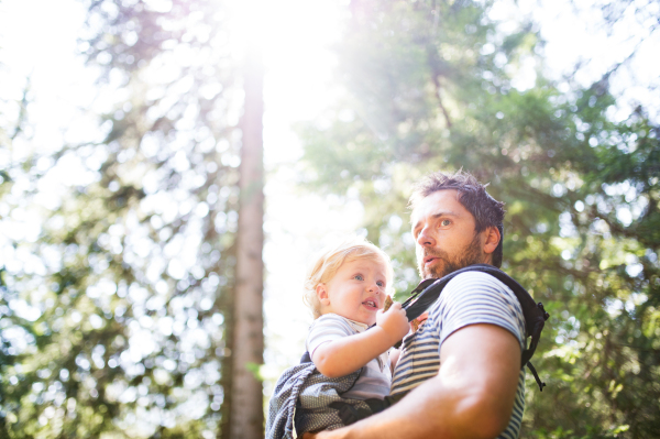
[[[0,437],[218,433],[241,91],[220,6],[172,3],[89,3],[99,142],[2,151],[2,226],[40,224],[2,242]]]

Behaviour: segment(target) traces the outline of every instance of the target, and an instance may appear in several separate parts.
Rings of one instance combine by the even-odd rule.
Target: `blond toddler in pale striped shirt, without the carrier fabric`
[[[315,365],[328,377],[366,366],[344,397],[382,399],[389,395],[387,351],[409,330],[400,304],[378,312],[392,281],[389,257],[360,238],[326,251],[307,276],[305,301],[315,321],[306,348]]]

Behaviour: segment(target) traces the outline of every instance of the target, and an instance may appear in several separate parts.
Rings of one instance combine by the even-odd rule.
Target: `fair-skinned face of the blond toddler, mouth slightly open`
[[[321,314],[334,312],[371,326],[385,301],[385,282],[381,261],[349,259],[327,284],[317,287]]]

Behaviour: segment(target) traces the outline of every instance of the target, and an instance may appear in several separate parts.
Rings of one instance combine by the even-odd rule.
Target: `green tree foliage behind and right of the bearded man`
[[[353,1],[338,47],[344,100],[300,127],[301,183],[358,197],[369,239],[417,282],[404,223],[419,176],[463,167],[506,202],[504,270],[546,304],[524,437],[652,437],[660,428],[660,129],[614,121],[608,77],[568,92],[539,73],[535,26],[491,2]]]

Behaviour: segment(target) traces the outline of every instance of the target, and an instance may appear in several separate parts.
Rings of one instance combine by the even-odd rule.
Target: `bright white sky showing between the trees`
[[[270,20],[263,28],[268,35],[264,50],[267,182],[264,312],[268,348],[262,373],[268,380],[276,378],[304,351],[307,326],[311,322],[300,299],[308,261],[332,239],[359,231],[362,221],[362,208],[356,202],[340,205],[301,191],[295,186],[288,166],[301,154],[292,124],[314,120],[338,95],[332,78],[337,61],[331,45],[340,36],[344,3],[330,0],[263,2],[264,14]],[[581,8],[590,3],[576,1]],[[588,84],[625,58],[641,36],[631,18],[626,19],[613,36],[607,36],[594,24],[597,14],[593,11],[574,13],[570,0],[546,0],[540,4],[519,0],[515,8],[513,1],[503,0],[496,2],[492,11],[493,18],[509,25],[515,25],[521,17],[532,18],[547,41],[546,65],[538,66],[532,61],[524,64],[517,81],[521,89],[534,84],[539,68],[559,79],[585,57],[594,61],[582,68],[575,79]],[[653,15],[653,11],[649,12]],[[657,10],[654,15],[658,15]],[[28,76],[34,97],[30,117],[35,133],[30,143],[14,143],[11,151],[14,160],[33,150],[50,152],[64,142],[100,136],[92,114],[107,108],[112,97],[110,88],[99,89],[95,85],[97,73],[85,67],[75,54],[84,19],[84,6],[75,0],[0,2],[0,106],[21,98]],[[649,85],[659,83],[660,56],[656,54],[659,43],[656,35],[641,45],[634,68],[617,76],[613,84],[615,92],[623,97],[622,102],[628,102],[623,105],[619,116],[640,102],[658,119],[659,97],[648,89]],[[7,152],[0,154],[0,167],[7,157]],[[63,172],[53,178],[47,185],[50,190],[64,190],[86,177]],[[47,205],[47,196],[43,202]],[[38,229],[37,221],[25,218],[23,229],[12,233],[34,233]]]

